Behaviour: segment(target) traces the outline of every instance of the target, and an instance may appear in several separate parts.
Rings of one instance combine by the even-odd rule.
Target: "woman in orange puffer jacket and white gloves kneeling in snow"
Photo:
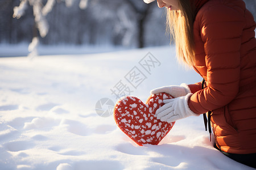
[[[172,122],[208,112],[215,147],[230,158],[256,168],[253,15],[242,0],[157,2],[159,7],[167,8],[167,25],[175,37],[177,58],[205,80],[152,90],[151,94],[167,92],[175,97],[164,101],[163,107],[156,111],[157,118]]]

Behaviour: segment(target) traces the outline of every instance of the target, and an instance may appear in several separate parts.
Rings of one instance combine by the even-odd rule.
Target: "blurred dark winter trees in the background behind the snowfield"
[[[165,12],[156,2],[138,0],[56,0],[46,15],[48,33],[40,37],[36,29],[32,6],[13,18],[19,0],[0,1],[0,43],[31,42],[39,36],[44,45],[93,45],[143,48],[167,45]],[[42,0],[43,5],[46,0]],[[256,18],[256,1],[245,0],[246,7]],[[41,35],[42,36],[42,35]]]

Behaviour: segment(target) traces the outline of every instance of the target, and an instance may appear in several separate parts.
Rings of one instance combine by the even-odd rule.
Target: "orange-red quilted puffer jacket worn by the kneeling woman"
[[[253,15],[242,0],[209,0],[194,23],[194,68],[207,87],[189,85],[189,108],[200,114],[212,111],[216,144],[233,154],[256,153],[254,29]]]

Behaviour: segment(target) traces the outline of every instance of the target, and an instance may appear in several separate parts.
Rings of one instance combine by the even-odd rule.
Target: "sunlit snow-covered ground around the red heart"
[[[156,62],[144,68],[148,55]],[[202,116],[177,121],[158,146],[141,147],[113,115],[96,113],[100,99],[115,103],[121,85],[146,101],[153,88],[201,80],[174,56],[160,47],[0,58],[0,169],[253,169],[213,148]],[[141,82],[129,79],[134,68]]]

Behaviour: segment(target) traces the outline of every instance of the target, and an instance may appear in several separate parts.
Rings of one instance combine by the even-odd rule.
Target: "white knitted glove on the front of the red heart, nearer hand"
[[[188,107],[188,99],[192,94],[177,97],[174,99],[163,100],[164,105],[156,110],[156,118],[161,121],[174,122],[188,116],[199,116]]]

